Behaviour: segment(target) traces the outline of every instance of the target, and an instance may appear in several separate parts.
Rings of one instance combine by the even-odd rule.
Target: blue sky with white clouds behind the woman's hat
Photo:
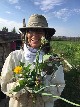
[[[56,29],[55,36],[80,37],[80,0],[1,0],[0,30],[7,27],[17,32],[32,14],[46,17],[49,27]]]

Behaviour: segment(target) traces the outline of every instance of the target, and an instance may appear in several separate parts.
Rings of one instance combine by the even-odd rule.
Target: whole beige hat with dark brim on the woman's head
[[[53,36],[55,34],[54,28],[49,28],[46,18],[43,15],[33,14],[28,20],[28,25],[26,27],[25,20],[23,21],[23,27],[19,28],[22,33],[25,33],[29,29],[43,29],[48,36]]]

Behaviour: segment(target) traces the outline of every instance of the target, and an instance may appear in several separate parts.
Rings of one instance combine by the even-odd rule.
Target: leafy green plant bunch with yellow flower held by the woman
[[[44,55],[43,61],[39,63],[39,51],[36,55],[36,62],[25,66],[20,62],[20,65],[14,68],[14,78],[18,82],[18,85],[13,91],[20,91],[25,89],[31,93],[37,93],[42,91],[46,86],[43,84],[45,75],[51,75],[54,73],[58,66],[60,66],[60,59],[52,57],[51,55]],[[42,71],[44,75],[42,75]]]

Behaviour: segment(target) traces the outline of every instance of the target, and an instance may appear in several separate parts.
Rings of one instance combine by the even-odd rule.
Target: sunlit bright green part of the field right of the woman
[[[52,52],[64,57],[72,66],[80,65],[80,41],[51,41]]]

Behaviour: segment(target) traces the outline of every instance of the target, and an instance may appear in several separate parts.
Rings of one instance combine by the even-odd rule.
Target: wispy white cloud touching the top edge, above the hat
[[[54,6],[61,5],[63,0],[34,0],[35,5],[39,5],[40,9],[43,11],[49,11],[54,8]]]

